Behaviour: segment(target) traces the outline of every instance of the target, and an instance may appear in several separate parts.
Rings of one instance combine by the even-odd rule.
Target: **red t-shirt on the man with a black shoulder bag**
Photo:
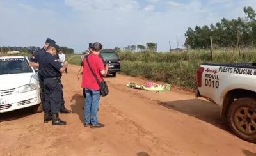
[[[105,70],[105,66],[102,62],[102,59],[96,54],[90,54],[88,56],[88,61],[90,63],[90,66],[93,72],[101,82],[103,78],[102,78],[102,75],[100,74],[100,71]],[[94,78],[85,58],[83,59],[83,67],[84,68],[83,68],[82,87],[87,88],[89,90],[100,90],[99,84]]]

